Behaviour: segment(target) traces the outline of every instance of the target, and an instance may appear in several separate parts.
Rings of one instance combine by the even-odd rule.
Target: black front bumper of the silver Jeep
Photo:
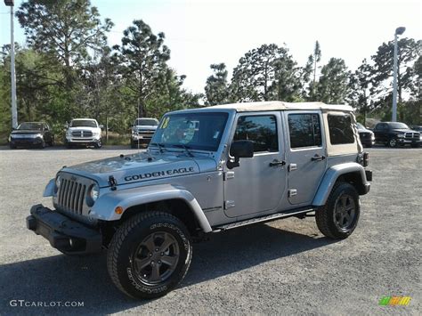
[[[27,228],[50,241],[52,247],[67,255],[101,251],[101,231],[87,227],[41,204],[31,207]]]

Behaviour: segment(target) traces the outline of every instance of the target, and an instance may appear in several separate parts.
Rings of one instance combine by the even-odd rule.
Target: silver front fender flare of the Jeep
[[[104,221],[118,221],[122,215],[118,215],[115,212],[116,207],[123,207],[125,212],[129,207],[166,199],[183,199],[191,207],[191,212],[198,220],[201,229],[204,232],[212,231],[207,217],[191,192],[171,184],[158,184],[126,190],[110,190],[110,192],[101,194],[89,215]]]

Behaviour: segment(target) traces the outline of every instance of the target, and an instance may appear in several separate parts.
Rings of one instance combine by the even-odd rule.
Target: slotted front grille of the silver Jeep
[[[62,209],[82,215],[87,186],[70,179],[63,179],[59,188],[58,206]]]

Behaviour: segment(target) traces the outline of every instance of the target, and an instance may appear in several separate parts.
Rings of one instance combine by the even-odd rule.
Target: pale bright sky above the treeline
[[[15,0],[15,7],[21,1]],[[315,40],[322,61],[341,57],[349,69],[370,58],[377,47],[406,27],[403,36],[422,38],[421,1],[288,1],[288,0],[92,0],[101,17],[115,27],[110,45],[120,43],[122,32],[135,19],[166,34],[170,65],[186,75],[185,87],[203,92],[211,63],[225,62],[229,73],[248,50],[262,44],[287,45],[304,65]],[[10,16],[0,4],[0,45],[10,43]],[[15,40],[25,43],[15,19]]]

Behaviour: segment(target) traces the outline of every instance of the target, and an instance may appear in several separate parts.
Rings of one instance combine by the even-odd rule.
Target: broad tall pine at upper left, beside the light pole
[[[106,45],[105,34],[113,26],[110,19],[101,23],[98,9],[89,0],[28,0],[20,5],[16,16],[28,45],[65,65],[68,88],[73,66],[89,49]]]

